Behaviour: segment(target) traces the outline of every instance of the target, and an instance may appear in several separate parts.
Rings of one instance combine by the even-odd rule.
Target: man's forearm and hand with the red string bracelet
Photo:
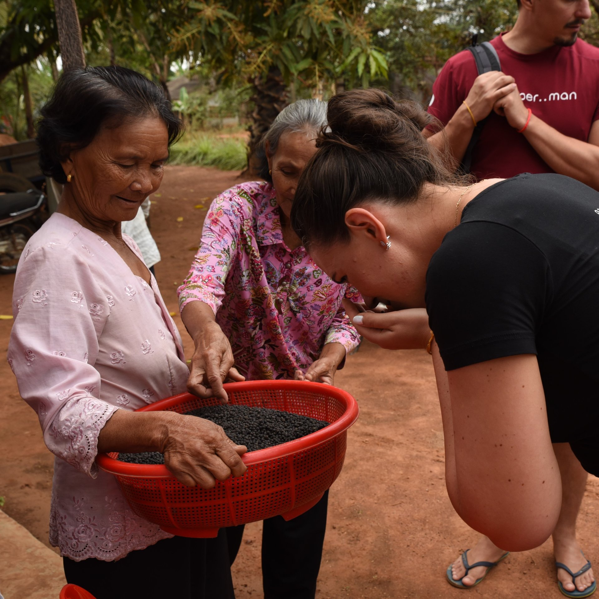
[[[495,104],[495,112],[519,131],[528,119],[528,109],[518,89]],[[591,126],[588,141],[576,140],[531,115],[523,135],[539,156],[556,172],[573,177],[599,190],[599,121]]]

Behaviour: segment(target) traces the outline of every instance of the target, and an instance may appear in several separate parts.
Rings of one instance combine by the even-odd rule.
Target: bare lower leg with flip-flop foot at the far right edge
[[[580,545],[576,540],[576,518],[580,503],[585,494],[586,471],[570,449],[569,443],[553,443],[553,451],[559,464],[562,479],[562,507],[558,523],[553,530],[553,553],[555,561],[562,562],[577,572],[586,564],[586,558],[580,553]],[[592,568],[576,579],[576,587],[572,577],[565,570],[558,569],[558,580],[561,580],[566,591],[584,591],[591,586],[595,577]]]

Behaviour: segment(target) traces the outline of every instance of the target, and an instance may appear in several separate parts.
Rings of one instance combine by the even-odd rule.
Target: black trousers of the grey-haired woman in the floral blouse
[[[264,599],[314,599],[325,540],[328,497],[326,491],[313,508],[289,522],[282,516],[264,521]],[[243,525],[226,528],[231,564],[237,557],[243,528]]]

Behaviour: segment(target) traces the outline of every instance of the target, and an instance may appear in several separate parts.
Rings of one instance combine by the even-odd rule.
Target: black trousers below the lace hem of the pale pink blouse
[[[96,599],[235,599],[224,530],[216,539],[173,537],[117,561],[63,558],[66,582]]]

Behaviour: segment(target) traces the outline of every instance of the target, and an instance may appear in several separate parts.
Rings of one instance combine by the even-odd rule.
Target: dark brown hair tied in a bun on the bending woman
[[[349,241],[347,210],[364,201],[408,204],[425,183],[459,184],[449,149],[422,135],[438,121],[416,102],[379,89],[353,89],[328,102],[328,127],[295,190],[291,225],[304,247]]]

